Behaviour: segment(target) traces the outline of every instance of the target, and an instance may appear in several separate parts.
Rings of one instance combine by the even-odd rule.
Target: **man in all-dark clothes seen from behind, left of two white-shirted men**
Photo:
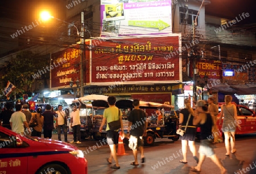
[[[44,138],[52,138],[53,120],[56,119],[56,113],[52,112],[51,105],[46,105],[46,111],[42,114],[44,116]]]

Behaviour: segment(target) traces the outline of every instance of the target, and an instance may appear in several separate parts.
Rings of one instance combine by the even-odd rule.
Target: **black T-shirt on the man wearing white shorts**
[[[132,123],[130,134],[133,136],[142,136],[147,121],[146,113],[141,109],[134,109],[131,111],[128,121]]]

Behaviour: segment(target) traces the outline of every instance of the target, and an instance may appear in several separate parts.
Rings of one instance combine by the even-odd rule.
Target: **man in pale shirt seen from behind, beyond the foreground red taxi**
[[[22,105],[15,105],[15,109],[15,113],[13,113],[10,118],[11,130],[24,136],[30,132],[26,121],[26,115],[22,113]],[[24,131],[24,127],[26,127],[26,132]]]

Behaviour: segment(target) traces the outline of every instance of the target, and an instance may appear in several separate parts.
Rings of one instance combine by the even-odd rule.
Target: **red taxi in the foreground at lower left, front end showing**
[[[87,160],[71,144],[21,136],[0,126],[0,173],[87,173]]]

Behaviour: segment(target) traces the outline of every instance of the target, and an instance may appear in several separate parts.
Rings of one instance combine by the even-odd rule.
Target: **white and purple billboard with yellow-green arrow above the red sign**
[[[171,34],[171,0],[101,0],[101,36]]]

